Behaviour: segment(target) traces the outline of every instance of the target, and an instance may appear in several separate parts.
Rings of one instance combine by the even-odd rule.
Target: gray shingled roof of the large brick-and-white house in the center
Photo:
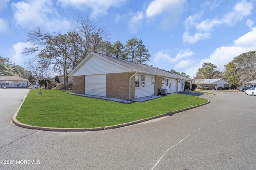
[[[134,63],[134,62],[131,62],[131,61],[117,59],[115,57],[110,57],[110,56],[107,56],[107,55],[94,53],[94,52],[91,52],[87,57],[89,57],[91,55],[96,55],[100,58],[106,59],[107,61],[111,61],[111,63],[122,66],[122,67],[124,67],[128,70],[131,70],[132,72],[151,74],[151,75],[154,75],[154,76],[176,78],[176,79],[179,79],[179,80],[193,81],[191,78],[186,78],[186,77],[180,76],[178,74],[174,74],[172,72],[167,72],[167,71],[164,71],[164,70],[152,67],[152,66],[148,66],[148,65],[145,65],[145,64]],[[82,64],[83,61],[80,64]],[[74,70],[72,70],[72,72],[74,72],[80,66],[80,64],[78,64],[78,66]],[[70,72],[70,74],[72,74],[72,72]]]

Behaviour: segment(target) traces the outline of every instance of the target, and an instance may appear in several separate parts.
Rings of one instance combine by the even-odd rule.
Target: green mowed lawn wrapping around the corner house
[[[41,127],[93,128],[118,125],[208,102],[203,98],[171,94],[134,104],[74,96],[61,90],[32,89],[16,117]]]

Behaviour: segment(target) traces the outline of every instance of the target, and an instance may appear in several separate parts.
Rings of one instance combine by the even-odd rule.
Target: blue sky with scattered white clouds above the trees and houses
[[[93,15],[109,41],[141,39],[149,65],[194,77],[204,62],[220,70],[256,50],[256,0],[0,0],[0,55],[21,65],[35,26],[66,33],[75,14]]]

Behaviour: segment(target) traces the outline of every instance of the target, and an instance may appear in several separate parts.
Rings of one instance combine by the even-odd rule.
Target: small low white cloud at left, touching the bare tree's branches
[[[15,65],[20,65],[22,64],[24,60],[24,55],[22,55],[22,50],[25,47],[30,47],[31,44],[30,43],[22,43],[22,42],[18,42],[16,44],[13,45],[13,50],[14,50],[14,55],[12,55],[12,58],[10,59],[12,61],[12,63],[15,63]]]

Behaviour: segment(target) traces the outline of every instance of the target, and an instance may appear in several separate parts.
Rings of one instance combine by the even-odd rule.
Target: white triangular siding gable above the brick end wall
[[[128,72],[128,70],[97,56],[90,57],[72,76]]]

